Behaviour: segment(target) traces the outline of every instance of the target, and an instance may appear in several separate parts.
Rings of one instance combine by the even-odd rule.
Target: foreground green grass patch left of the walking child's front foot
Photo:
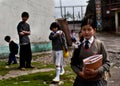
[[[48,86],[53,76],[51,72],[35,73],[0,81],[1,86]]]

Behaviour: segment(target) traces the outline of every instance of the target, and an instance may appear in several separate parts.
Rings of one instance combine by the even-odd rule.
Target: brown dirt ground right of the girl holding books
[[[113,33],[97,33],[96,37],[104,42],[111,61],[108,86],[120,86],[120,36]]]

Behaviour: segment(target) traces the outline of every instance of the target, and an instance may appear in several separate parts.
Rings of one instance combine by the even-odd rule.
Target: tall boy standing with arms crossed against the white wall
[[[31,34],[30,25],[26,22],[29,18],[28,12],[21,14],[22,21],[17,26],[20,44],[20,66],[21,70],[25,68],[34,68],[31,66],[32,52],[29,35]]]

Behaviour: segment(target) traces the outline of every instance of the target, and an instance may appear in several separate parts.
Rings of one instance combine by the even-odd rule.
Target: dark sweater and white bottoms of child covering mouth
[[[51,32],[49,35],[49,39],[52,40],[54,64],[56,66],[64,66],[63,46],[67,49],[65,34],[63,33],[61,37],[57,34],[57,32]]]

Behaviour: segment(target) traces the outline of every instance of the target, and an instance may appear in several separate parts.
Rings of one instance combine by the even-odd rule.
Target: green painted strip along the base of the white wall
[[[41,51],[49,51],[52,49],[50,42],[41,42],[41,43],[31,43],[32,53],[41,52]],[[8,46],[0,46],[0,58],[8,57],[9,55],[9,47]]]

